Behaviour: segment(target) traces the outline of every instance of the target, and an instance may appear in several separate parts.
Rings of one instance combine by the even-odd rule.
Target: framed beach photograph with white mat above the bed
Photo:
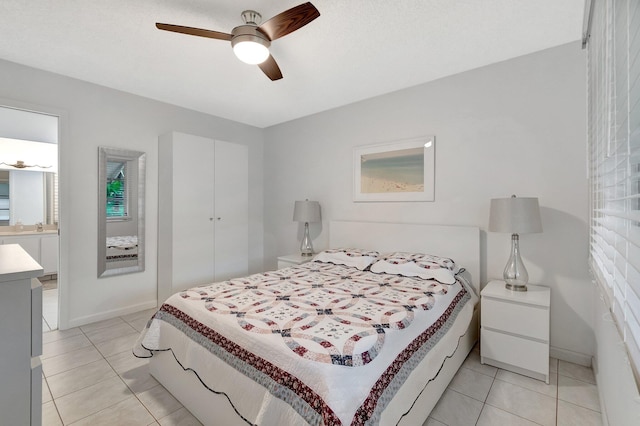
[[[354,201],[433,201],[435,136],[356,147]]]

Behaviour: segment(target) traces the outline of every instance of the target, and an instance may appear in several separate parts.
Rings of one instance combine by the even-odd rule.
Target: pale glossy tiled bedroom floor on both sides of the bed
[[[43,425],[199,425],[131,348],[153,310],[44,333]],[[600,425],[593,372],[550,360],[551,383],[480,364],[471,352],[428,426]]]

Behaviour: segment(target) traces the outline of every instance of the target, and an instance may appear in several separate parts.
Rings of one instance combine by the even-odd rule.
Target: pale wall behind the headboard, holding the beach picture
[[[544,233],[522,235],[530,282],[551,287],[552,355],[590,363],[585,54],[579,43],[333,109],[265,132],[265,264],[298,250],[295,200],[332,219],[476,225],[489,200],[539,197]],[[354,203],[353,147],[436,135],[435,202]],[[502,276],[510,237],[483,232],[482,283]],[[523,319],[526,320],[526,319]]]

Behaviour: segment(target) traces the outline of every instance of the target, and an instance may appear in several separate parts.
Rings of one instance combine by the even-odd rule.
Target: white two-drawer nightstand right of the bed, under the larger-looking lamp
[[[480,362],[549,384],[551,291],[529,284],[527,290],[494,280],[480,293]]]

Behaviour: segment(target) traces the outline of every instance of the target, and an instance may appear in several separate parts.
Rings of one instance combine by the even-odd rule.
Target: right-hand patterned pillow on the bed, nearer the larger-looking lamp
[[[434,279],[442,284],[454,284],[458,272],[449,258],[422,253],[386,253],[371,265],[371,272]]]

